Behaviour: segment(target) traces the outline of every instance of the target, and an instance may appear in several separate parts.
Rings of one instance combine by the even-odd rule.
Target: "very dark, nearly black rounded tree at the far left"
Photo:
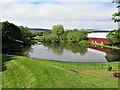
[[[16,42],[22,40],[20,29],[8,21],[2,23],[2,41],[3,43]]]

